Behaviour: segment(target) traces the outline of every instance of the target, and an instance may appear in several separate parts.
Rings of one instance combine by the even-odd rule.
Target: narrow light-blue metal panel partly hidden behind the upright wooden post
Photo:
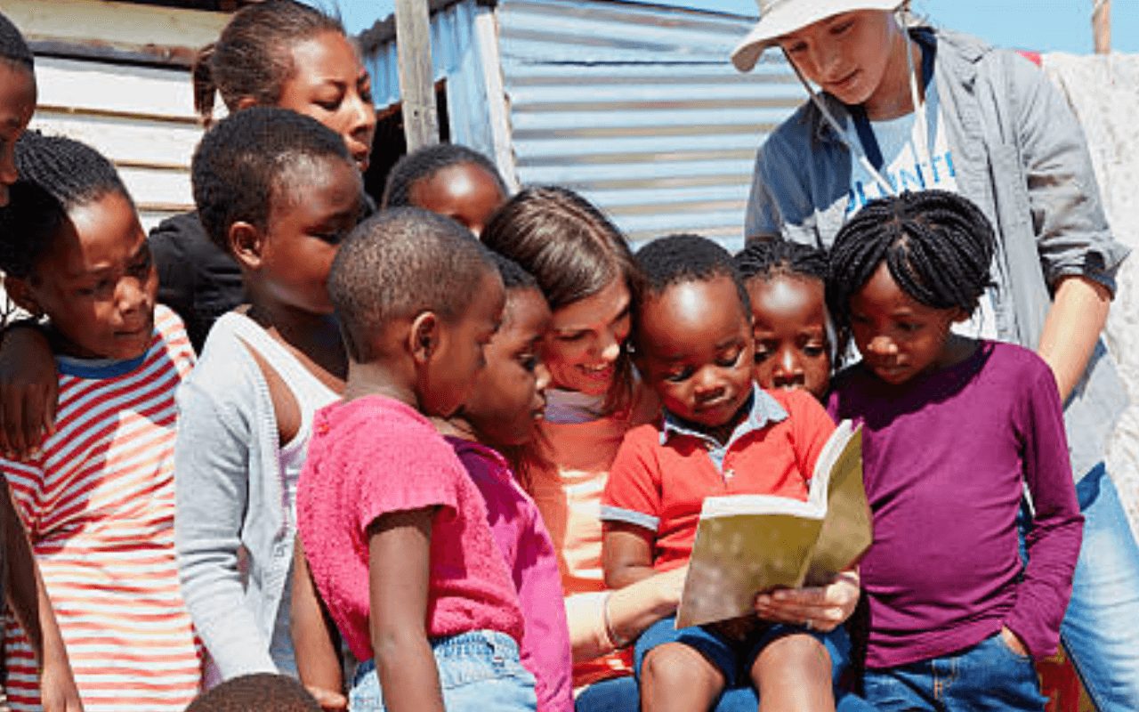
[[[486,111],[486,82],[475,16],[493,10],[462,0],[432,16],[431,47],[435,80],[446,80],[446,111],[451,141],[494,155]],[[400,101],[395,42],[386,42],[364,59],[371,73],[372,96],[380,111]],[[498,71],[497,67],[492,68]]]

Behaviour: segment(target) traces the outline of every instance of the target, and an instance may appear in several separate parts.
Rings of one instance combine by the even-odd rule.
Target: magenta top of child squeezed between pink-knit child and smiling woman
[[[514,572],[526,632],[522,664],[538,681],[539,712],[572,712],[573,658],[554,541],[534,500],[501,455],[468,440],[446,439],[486,500],[491,531]]]

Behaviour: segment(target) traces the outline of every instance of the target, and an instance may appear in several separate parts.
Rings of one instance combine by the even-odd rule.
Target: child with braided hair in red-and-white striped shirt
[[[200,656],[174,563],[174,390],[194,363],[181,321],[155,308],[138,213],[110,163],[65,138],[25,134],[0,208],[13,300],[50,319],[55,434],[2,460],[55,604],[83,707],[181,712]],[[8,703],[39,710],[36,665],[8,620]]]

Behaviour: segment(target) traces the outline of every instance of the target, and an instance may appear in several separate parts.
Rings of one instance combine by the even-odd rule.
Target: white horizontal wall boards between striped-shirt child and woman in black
[[[146,229],[192,210],[202,137],[187,69],[39,57],[32,128],[90,144],[118,167]]]

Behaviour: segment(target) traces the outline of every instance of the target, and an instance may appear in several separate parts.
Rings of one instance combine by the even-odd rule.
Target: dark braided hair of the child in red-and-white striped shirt
[[[0,269],[13,277],[31,276],[72,208],[112,193],[131,202],[107,158],[62,136],[24,133],[16,142],[16,171],[19,180],[8,205],[0,207]]]

